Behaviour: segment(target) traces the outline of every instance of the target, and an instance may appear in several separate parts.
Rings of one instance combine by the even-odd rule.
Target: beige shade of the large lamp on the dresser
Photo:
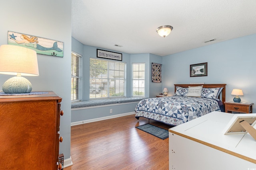
[[[36,51],[17,45],[0,46],[0,74],[38,76]]]

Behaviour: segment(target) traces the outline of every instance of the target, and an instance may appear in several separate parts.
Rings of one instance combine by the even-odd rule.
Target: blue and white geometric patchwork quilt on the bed
[[[135,108],[135,117],[146,117],[176,126],[212,111],[221,111],[214,99],[170,96],[141,100]]]

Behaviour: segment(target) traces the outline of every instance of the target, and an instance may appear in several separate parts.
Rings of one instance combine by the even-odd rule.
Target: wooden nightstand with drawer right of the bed
[[[232,113],[232,111],[239,113],[252,113],[253,103],[224,102],[224,104],[226,113]]]

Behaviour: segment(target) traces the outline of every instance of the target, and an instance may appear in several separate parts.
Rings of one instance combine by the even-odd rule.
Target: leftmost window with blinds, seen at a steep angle
[[[82,56],[71,53],[71,101],[81,100]]]

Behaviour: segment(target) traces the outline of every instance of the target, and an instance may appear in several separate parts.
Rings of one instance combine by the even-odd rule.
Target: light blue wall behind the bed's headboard
[[[174,94],[173,84],[204,82],[227,84],[226,100],[232,101],[232,89],[241,88],[242,102],[252,102],[256,112],[256,34],[200,47],[162,58],[163,87]],[[190,64],[208,63],[208,76],[190,77]]]

